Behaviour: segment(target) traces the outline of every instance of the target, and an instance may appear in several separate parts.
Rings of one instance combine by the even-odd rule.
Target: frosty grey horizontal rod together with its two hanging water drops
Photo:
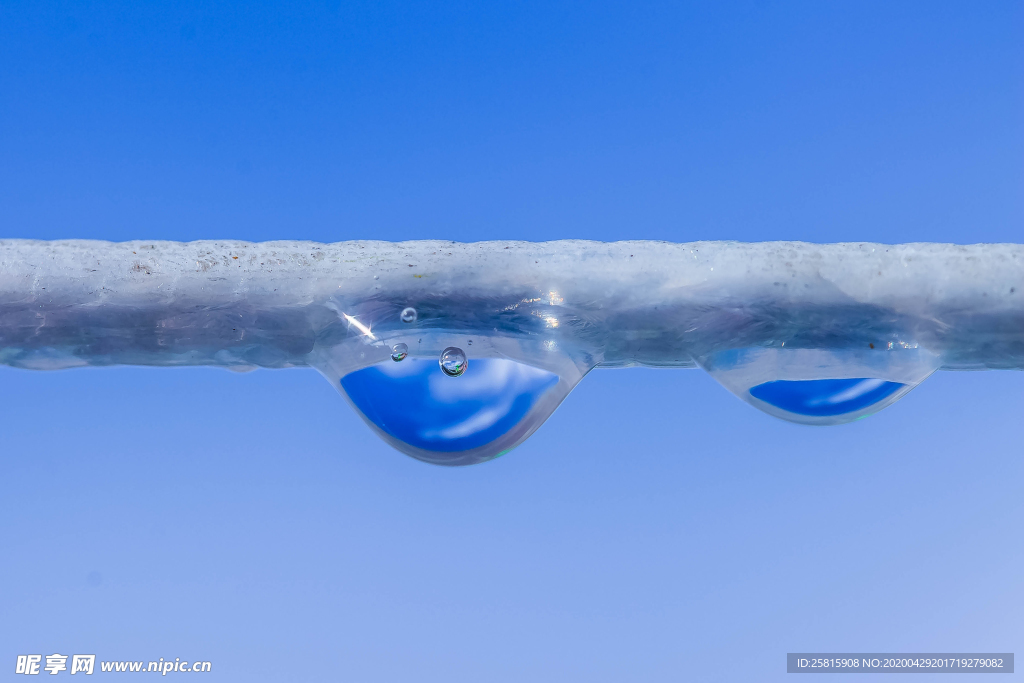
[[[443,381],[476,393],[411,404],[466,425],[486,422],[470,402],[507,410],[434,446],[429,426],[397,424],[404,413],[381,401],[456,386],[392,378],[426,360],[440,374],[450,348],[469,370]],[[505,361],[557,381],[487,374]],[[449,464],[521,442],[600,367],[699,366],[769,414],[836,424],[938,369],[1024,368],[1024,246],[8,240],[0,362],[312,366],[357,387],[346,396],[396,447]]]

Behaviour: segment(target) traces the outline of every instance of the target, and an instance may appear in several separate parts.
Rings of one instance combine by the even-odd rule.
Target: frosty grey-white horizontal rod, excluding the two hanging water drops
[[[1024,368],[1024,246],[0,241],[0,362],[304,366],[352,315],[570,340],[597,366],[915,341]],[[556,327],[557,326],[557,327]]]

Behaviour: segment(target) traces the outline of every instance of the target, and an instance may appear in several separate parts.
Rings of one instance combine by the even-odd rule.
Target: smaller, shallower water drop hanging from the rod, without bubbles
[[[915,346],[886,350],[744,348],[703,357],[723,386],[777,418],[811,425],[873,415],[918,386],[939,366]]]

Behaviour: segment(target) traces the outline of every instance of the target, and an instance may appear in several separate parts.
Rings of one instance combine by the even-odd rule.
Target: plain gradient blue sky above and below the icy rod
[[[0,234],[1021,242],[1024,5],[894,4],[2,1]],[[598,682],[1024,650],[1019,373],[808,428],[699,371],[596,371],[456,470],[313,371],[0,387],[2,680],[54,651]]]

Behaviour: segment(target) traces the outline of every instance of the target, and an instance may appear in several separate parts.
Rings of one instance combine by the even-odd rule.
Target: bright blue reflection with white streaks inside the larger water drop
[[[557,383],[554,373],[507,358],[473,358],[460,377],[446,376],[436,358],[410,357],[341,378],[345,393],[373,424],[438,454],[501,438]]]

